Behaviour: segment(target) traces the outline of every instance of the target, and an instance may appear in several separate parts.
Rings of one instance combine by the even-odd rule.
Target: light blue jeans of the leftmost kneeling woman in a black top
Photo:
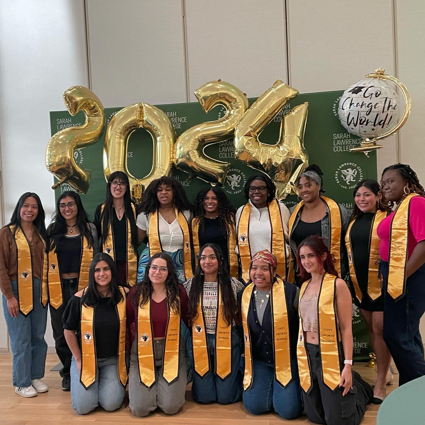
[[[118,376],[118,357],[97,359],[97,376],[93,385],[87,390],[80,382],[80,373],[74,357],[71,359],[71,400],[72,407],[84,415],[101,405],[112,412],[122,406],[125,388]]]

